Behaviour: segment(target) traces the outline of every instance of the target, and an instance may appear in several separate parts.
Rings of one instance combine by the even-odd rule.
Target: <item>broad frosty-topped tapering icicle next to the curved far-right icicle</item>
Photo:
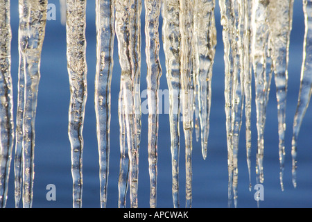
[[[277,110],[279,128],[279,179],[284,190],[283,172],[285,159],[286,94],[288,82],[288,54],[293,23],[293,0],[270,1],[268,24],[270,28],[269,47],[277,87]]]

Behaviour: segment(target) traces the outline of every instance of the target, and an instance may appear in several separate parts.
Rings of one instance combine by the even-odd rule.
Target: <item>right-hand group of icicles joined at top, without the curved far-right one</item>
[[[293,1],[219,1],[225,45],[225,113],[229,168],[229,206],[237,206],[239,131],[245,99],[246,153],[250,175],[250,108],[252,62],[257,108],[257,180],[263,182],[263,132],[272,74],[277,87],[279,122],[280,181],[283,186],[286,130],[288,48],[293,17]],[[251,45],[251,49],[250,49]]]

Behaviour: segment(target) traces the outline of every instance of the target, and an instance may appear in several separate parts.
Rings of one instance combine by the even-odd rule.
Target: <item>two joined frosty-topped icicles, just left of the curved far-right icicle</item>
[[[252,62],[256,88],[258,153],[257,174],[263,182],[263,131],[272,73],[277,87],[279,122],[280,182],[283,186],[286,130],[286,94],[288,80],[288,48],[293,21],[293,0],[252,2]]]

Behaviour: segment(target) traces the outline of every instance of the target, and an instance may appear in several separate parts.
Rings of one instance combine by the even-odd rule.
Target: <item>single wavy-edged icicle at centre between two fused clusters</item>
[[[146,63],[148,89],[148,164],[150,173],[150,207],[157,205],[157,139],[158,139],[158,89],[162,76],[159,60],[159,14],[160,0],[146,0]]]

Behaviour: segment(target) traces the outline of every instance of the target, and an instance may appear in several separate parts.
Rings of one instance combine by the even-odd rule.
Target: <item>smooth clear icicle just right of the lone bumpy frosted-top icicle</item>
[[[100,164],[101,207],[106,207],[110,160],[110,88],[114,49],[114,4],[96,1],[97,65],[95,80],[96,130]]]

